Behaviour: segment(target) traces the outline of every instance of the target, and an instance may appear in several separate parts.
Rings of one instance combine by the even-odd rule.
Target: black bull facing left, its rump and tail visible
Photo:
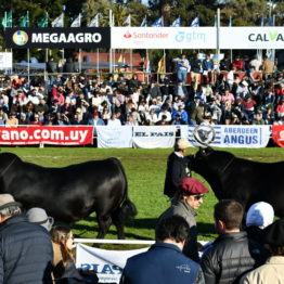
[[[25,163],[11,153],[0,154],[0,193],[10,193],[25,209],[41,207],[55,220],[74,223],[96,212],[98,238],[112,221],[124,238],[124,221],[135,216],[128,198],[127,179],[116,158],[86,162],[64,168]]]

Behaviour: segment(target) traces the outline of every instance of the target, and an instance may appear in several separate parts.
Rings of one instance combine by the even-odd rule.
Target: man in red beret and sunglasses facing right
[[[173,215],[181,216],[186,220],[190,227],[190,236],[183,248],[183,253],[196,262],[199,262],[199,256],[195,209],[198,209],[203,204],[204,194],[208,192],[209,190],[197,179],[182,179],[175,193],[175,198],[171,199],[171,206],[158,218],[158,223],[163,219]]]

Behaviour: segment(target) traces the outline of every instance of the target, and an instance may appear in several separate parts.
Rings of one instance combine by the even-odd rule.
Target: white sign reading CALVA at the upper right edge
[[[284,27],[221,27],[220,48],[283,49]]]

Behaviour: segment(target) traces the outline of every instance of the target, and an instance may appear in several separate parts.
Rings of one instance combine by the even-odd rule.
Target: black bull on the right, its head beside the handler
[[[206,179],[218,199],[236,199],[246,209],[267,202],[276,216],[284,217],[284,162],[251,162],[207,147],[199,149],[190,166]]]

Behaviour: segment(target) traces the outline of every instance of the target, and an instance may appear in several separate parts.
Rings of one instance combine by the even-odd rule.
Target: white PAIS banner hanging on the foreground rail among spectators
[[[127,259],[147,249],[149,247],[132,250],[106,250],[77,244],[76,267],[96,272],[100,283],[119,283]]]

